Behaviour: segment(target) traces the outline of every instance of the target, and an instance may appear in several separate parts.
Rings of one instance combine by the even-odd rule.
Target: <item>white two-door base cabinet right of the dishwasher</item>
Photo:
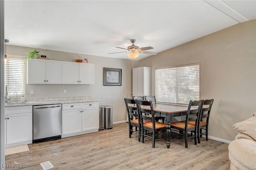
[[[62,105],[62,138],[97,132],[99,103],[70,103]]]

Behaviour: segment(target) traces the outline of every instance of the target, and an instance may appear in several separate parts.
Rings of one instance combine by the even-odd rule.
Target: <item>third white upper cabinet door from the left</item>
[[[79,63],[62,61],[62,84],[79,84]]]

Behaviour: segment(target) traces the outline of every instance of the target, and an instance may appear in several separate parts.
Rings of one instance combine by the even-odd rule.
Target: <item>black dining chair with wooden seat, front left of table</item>
[[[144,143],[145,136],[152,138],[152,148],[154,148],[155,142],[156,142],[156,136],[166,133],[166,132],[159,133],[160,130],[166,130],[166,124],[155,121],[152,101],[136,99],[136,105],[138,108],[138,115],[139,115],[140,125],[141,125],[141,136],[142,136],[141,141],[142,143]],[[145,109],[144,107],[146,106],[149,106],[149,108]],[[152,115],[152,116],[148,117],[146,115]],[[144,133],[146,132],[146,130],[151,131],[152,135],[148,133]]]

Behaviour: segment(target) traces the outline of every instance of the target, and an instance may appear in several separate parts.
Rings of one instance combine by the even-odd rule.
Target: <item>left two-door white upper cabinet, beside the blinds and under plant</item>
[[[27,84],[62,84],[62,61],[27,61]]]

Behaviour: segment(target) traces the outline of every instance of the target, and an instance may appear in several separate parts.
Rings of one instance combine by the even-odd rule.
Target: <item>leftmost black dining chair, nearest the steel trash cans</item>
[[[136,102],[134,99],[128,99],[124,98],[124,102],[126,105],[126,111],[128,115],[128,123],[129,123],[129,138],[132,137],[132,133],[136,132],[138,133],[138,141],[140,141],[140,119],[138,117],[137,108],[134,107],[136,105]],[[134,119],[135,117],[135,119]],[[133,129],[135,127],[135,130]]]

